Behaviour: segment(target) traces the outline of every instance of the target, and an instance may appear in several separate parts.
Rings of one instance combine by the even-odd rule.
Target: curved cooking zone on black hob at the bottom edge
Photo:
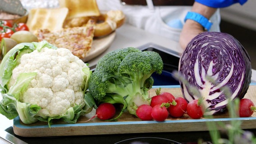
[[[138,137],[119,141],[115,144],[181,144],[176,141],[157,137]]]

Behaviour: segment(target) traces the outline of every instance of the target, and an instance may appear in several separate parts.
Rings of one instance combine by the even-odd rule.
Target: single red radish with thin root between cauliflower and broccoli
[[[101,120],[108,120],[115,115],[115,107],[111,103],[101,103],[98,108],[96,109],[96,114],[91,117],[89,120],[92,120],[95,117],[98,117]],[[87,122],[85,121],[85,122]]]

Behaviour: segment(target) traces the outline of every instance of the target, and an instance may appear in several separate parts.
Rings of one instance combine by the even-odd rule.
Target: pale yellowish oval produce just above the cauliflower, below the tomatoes
[[[19,43],[22,42],[38,42],[37,36],[30,31],[16,31],[12,34],[11,39]]]

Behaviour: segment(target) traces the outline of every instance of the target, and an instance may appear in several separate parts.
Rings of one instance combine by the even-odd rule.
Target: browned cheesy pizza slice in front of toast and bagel
[[[78,58],[84,59],[91,50],[95,25],[95,21],[89,20],[82,27],[63,28],[60,31],[39,29],[36,35],[39,41],[46,40],[58,48],[67,48]]]

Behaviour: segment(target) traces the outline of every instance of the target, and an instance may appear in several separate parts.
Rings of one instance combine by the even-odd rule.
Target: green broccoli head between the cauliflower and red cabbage
[[[136,115],[139,105],[151,102],[148,93],[154,83],[151,74],[161,74],[162,70],[163,61],[156,52],[133,47],[117,49],[98,61],[88,89],[96,103],[121,103],[123,110]]]

